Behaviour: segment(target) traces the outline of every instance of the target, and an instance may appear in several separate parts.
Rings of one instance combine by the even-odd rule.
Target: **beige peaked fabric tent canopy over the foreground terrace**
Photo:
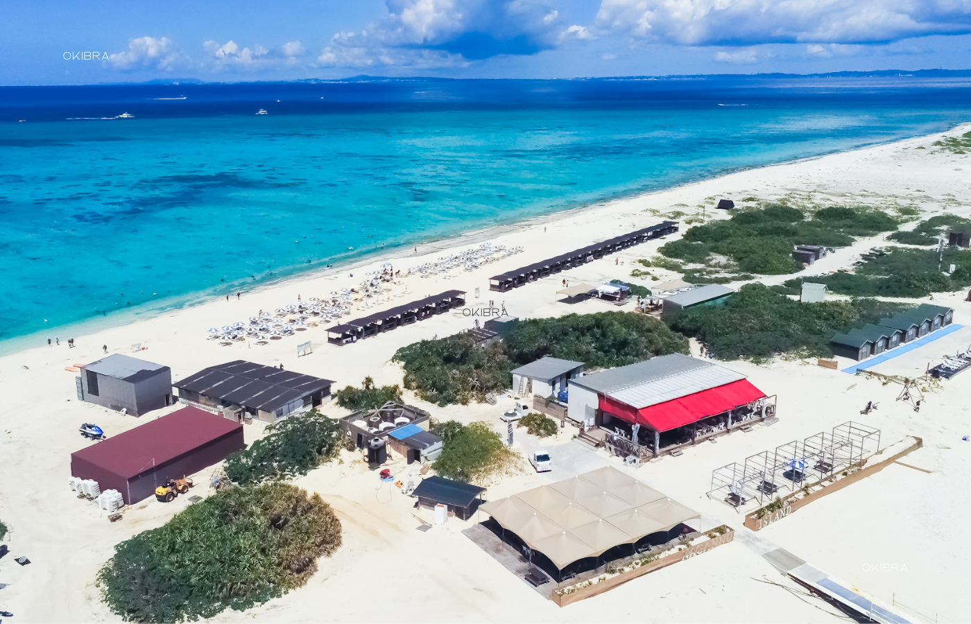
[[[479,509],[560,570],[698,517],[612,466],[489,501]]]

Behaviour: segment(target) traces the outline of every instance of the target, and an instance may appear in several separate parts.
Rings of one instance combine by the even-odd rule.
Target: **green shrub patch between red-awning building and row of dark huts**
[[[689,308],[668,322],[720,359],[762,361],[784,353],[829,357],[834,334],[904,308],[873,300],[803,304],[753,283],[742,286],[722,306]]]

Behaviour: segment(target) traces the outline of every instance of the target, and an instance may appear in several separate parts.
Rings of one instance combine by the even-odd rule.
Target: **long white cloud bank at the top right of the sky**
[[[971,32],[971,1],[602,0],[596,24],[687,46],[887,43]]]

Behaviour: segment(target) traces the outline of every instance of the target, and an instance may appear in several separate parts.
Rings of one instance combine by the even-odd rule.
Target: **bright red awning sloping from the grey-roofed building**
[[[761,399],[765,394],[746,379],[689,394],[637,410],[611,397],[600,395],[600,409],[631,424],[669,431]]]

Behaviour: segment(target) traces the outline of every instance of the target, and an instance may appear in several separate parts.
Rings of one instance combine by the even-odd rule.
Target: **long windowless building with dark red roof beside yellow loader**
[[[149,498],[169,478],[197,473],[246,447],[241,423],[183,408],[71,453],[71,475],[117,490],[125,505]]]

